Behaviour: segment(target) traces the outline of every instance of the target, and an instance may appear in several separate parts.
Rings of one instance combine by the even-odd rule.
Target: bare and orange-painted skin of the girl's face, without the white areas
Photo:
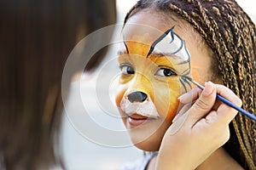
[[[145,14],[148,15],[147,18],[144,17]],[[179,106],[177,98],[186,92],[186,89],[183,88],[179,81],[179,75],[188,69],[188,65],[177,65],[175,56],[159,56],[160,54],[153,52],[147,58],[152,43],[166,30],[175,26],[173,31],[186,42],[186,47],[191,55],[191,71],[189,75],[199,82],[206,81],[211,63],[211,59],[206,57],[209,56],[207,50],[198,50],[197,42],[191,36],[193,32],[189,32],[187,23],[172,20],[163,25],[158,20],[159,17],[157,14],[148,13],[148,10],[144,10],[133,15],[127,21],[124,27],[126,48],[124,45],[124,48],[119,50],[119,65],[122,70],[126,69],[125,71],[127,71],[127,68],[122,67],[122,65],[128,64],[135,70],[135,74],[121,75],[119,78],[119,90],[116,94],[116,105],[119,107],[125,127],[129,129],[132,142],[142,150],[151,151],[159,150],[161,139],[166,129],[170,127],[173,117],[177,114]],[[153,23],[152,20],[155,20],[155,22]],[[131,26],[129,24],[143,24],[154,29],[145,27],[142,31],[138,31],[136,25]],[[198,62],[199,60],[201,62]],[[163,74],[164,69],[171,69],[178,76],[166,77]],[[189,89],[189,84],[186,84],[186,87]],[[142,126],[132,129],[124,111],[120,110],[120,101],[125,94],[129,94],[135,89],[143,91],[153,99],[160,118],[150,120],[143,123]]]

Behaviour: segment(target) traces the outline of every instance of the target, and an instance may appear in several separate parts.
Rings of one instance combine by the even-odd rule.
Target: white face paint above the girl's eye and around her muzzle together
[[[180,77],[179,81],[183,85],[183,88],[187,91],[187,87],[185,86],[185,84],[189,82],[183,80],[183,76],[188,75],[190,72],[189,51],[187,50],[183,39],[181,39],[181,37],[179,37],[175,32],[172,31],[173,28],[174,27],[166,31],[165,34],[163,34],[154,41],[148,51],[147,57],[150,54],[164,54],[165,56],[170,57],[170,59],[172,59],[172,64],[176,65],[177,68],[180,67],[179,70],[176,69],[177,76]],[[129,54],[129,50],[127,50],[127,53]],[[131,116],[132,114],[138,114],[141,116],[148,116],[152,118],[160,117],[158,111],[154,106],[154,103],[149,96],[147,100],[135,103],[131,103],[129,99],[125,99],[125,97],[123,97],[120,101],[120,108],[128,116]]]

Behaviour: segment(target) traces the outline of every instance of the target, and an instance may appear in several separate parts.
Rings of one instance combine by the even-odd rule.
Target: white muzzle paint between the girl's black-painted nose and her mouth
[[[123,99],[120,102],[120,108],[125,112],[128,116],[132,114],[138,114],[141,116],[148,116],[149,118],[158,118],[160,117],[159,113],[156,111],[154,103],[152,99],[148,96],[148,99],[143,102],[131,103],[129,99]]]

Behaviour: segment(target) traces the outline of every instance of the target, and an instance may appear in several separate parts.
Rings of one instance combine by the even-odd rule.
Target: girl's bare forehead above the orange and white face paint
[[[154,8],[142,9],[136,14],[132,14],[125,23],[123,35],[125,40],[137,40],[140,37],[140,41],[143,40],[150,45],[173,26],[173,31],[187,43],[195,44],[198,37],[201,37],[188,21],[174,14],[163,14]]]

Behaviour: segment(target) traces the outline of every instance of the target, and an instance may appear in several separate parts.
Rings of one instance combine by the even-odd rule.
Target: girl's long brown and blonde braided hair
[[[235,0],[140,0],[124,24],[143,8],[158,8],[187,20],[212,49],[224,85],[256,115],[256,28]],[[255,122],[237,114],[224,148],[242,167],[256,169]]]

